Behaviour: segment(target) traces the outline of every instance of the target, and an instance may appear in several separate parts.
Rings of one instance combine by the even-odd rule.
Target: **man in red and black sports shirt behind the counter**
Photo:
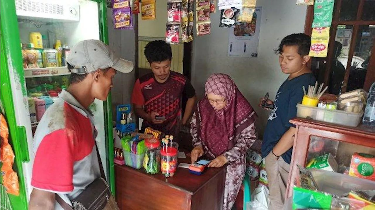
[[[145,57],[153,73],[137,79],[132,94],[136,115],[144,119],[141,131],[151,127],[165,134],[177,135],[180,125],[185,125],[195,105],[195,90],[187,78],[170,71],[171,46],[164,41],[146,45]],[[188,98],[181,121],[182,96]]]

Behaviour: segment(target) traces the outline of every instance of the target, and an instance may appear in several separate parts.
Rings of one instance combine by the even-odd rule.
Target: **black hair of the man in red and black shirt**
[[[144,48],[144,55],[148,63],[162,62],[165,60],[172,59],[172,48],[171,45],[163,40],[156,40],[149,42]]]

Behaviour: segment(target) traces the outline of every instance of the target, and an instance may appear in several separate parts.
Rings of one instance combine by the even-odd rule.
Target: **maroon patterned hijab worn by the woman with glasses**
[[[226,98],[226,106],[214,110],[207,99],[209,93]],[[239,134],[254,123],[257,113],[226,74],[213,74],[208,78],[205,96],[198,102],[196,113],[198,137],[214,158],[234,147]]]

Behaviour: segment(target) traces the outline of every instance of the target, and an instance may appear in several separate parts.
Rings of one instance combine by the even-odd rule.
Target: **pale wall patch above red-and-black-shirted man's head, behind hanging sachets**
[[[142,20],[141,13],[138,14],[138,36],[139,37],[165,37],[167,20],[167,0],[156,0],[156,19]]]

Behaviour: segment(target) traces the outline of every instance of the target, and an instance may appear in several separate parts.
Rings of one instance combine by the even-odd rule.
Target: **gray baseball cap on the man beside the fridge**
[[[131,61],[117,57],[108,45],[95,39],[84,40],[74,45],[66,62],[74,67],[71,72],[75,74],[87,74],[109,67],[122,73],[133,70]]]

